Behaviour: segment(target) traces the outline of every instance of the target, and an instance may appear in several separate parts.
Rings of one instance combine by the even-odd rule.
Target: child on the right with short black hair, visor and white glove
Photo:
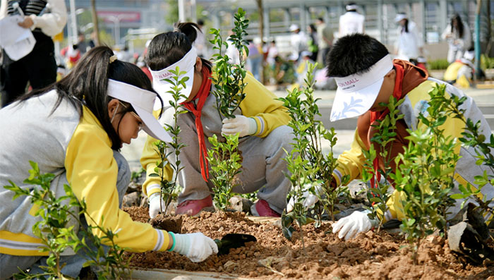
[[[418,114],[426,112],[430,100],[428,92],[435,85],[440,84],[446,85],[447,95],[465,96],[456,87],[428,77],[426,71],[408,61],[392,60],[386,47],[367,35],[355,34],[340,38],[327,55],[327,61],[327,76],[335,77],[338,85],[332,105],[331,121],[359,116],[351,150],[345,151],[338,157],[338,166],[333,173],[337,184],[345,175],[349,175],[350,181],[361,178],[363,162],[365,162],[362,150],[369,150],[370,145],[375,145],[371,142],[376,133],[372,125],[377,125],[377,120],[383,119],[389,112],[386,110],[387,106],[382,106],[380,103],[389,103],[391,96],[404,99],[404,102],[398,106],[398,114],[403,114],[404,118],[396,123],[394,130],[397,133],[396,140],[390,143],[388,151],[390,152],[390,167],[394,171],[397,167],[394,158],[404,151],[404,147],[409,142],[406,139],[409,135],[406,129],[416,130],[425,126],[418,122]],[[486,135],[487,140],[490,139],[490,127],[471,97],[466,97],[460,109],[465,110],[465,119],[470,118],[474,123],[481,121],[478,131]],[[445,137],[461,137],[464,126],[459,119],[448,117],[443,125]],[[375,145],[375,150],[380,150],[378,145]],[[468,182],[474,185],[474,176],[481,175],[484,171],[493,175],[492,171],[485,166],[476,165],[476,152],[472,147],[458,146],[455,152],[459,154],[460,159],[454,170],[457,175],[455,176],[456,187],[452,190],[454,193],[459,193],[458,183],[465,185]],[[378,162],[378,168],[384,169],[385,160],[379,158],[379,155]],[[485,185],[482,193],[486,199],[492,199],[494,197],[493,185]],[[398,197],[399,193],[395,190],[387,202],[390,210],[383,215],[384,219],[401,220],[404,218],[402,204]],[[448,219],[459,212],[461,204],[462,200],[457,200],[454,207],[448,209],[450,212]],[[339,238],[349,239],[359,232],[368,231],[373,224],[375,221],[371,221],[366,213],[354,212],[349,217],[340,219],[333,226],[333,232],[339,232]]]

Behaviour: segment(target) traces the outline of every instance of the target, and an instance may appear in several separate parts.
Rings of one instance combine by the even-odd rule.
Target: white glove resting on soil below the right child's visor
[[[367,214],[370,211],[353,212],[350,216],[339,219],[333,224],[333,233],[338,233],[339,238],[344,238],[345,241],[354,238],[358,233],[368,231],[374,226],[378,226],[378,221],[369,219]]]

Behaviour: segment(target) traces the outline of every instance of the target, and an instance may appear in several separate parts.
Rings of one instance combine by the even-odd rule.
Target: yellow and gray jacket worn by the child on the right
[[[448,95],[448,97],[450,97],[450,95],[452,94],[459,97],[466,96],[462,91],[458,90],[452,85],[444,83],[440,80],[428,78],[428,80],[408,92],[408,94],[404,97],[403,104],[398,107],[399,114],[404,114],[404,122],[406,123],[406,126],[411,130],[416,130],[417,128],[425,129],[425,125],[418,122],[418,114],[420,112],[423,114],[426,113],[428,101],[430,100],[428,92],[433,89],[436,83],[446,85],[446,94]],[[474,99],[472,99],[471,97],[467,97],[466,102],[464,102],[464,104],[460,106],[460,109],[465,109],[465,119],[470,118],[472,121],[474,121],[474,123],[476,123],[477,121],[481,122],[479,131],[486,135],[486,139],[488,140],[491,135],[490,127],[486,121],[486,118],[484,118],[481,111],[476,106]],[[442,129],[444,129],[445,137],[451,136],[452,138],[461,137],[464,128],[464,123],[458,118],[447,118],[447,121],[445,121],[444,125],[442,126]],[[366,150],[366,145],[363,143],[363,141],[359,137],[359,133],[356,130],[354,141],[351,144],[351,150],[343,152],[338,157],[337,169],[333,171],[333,176],[335,177],[338,185],[342,181],[342,177],[345,175],[349,175],[350,181],[361,178],[363,162],[365,161],[362,150]],[[470,183],[471,185],[474,185],[474,176],[482,175],[483,171],[486,171],[490,175],[494,175],[492,171],[490,169],[487,169],[485,166],[476,165],[476,153],[473,148],[467,148],[462,147],[461,145],[457,145],[454,152],[459,154],[460,159],[454,169],[455,188],[452,190],[453,193],[460,193],[458,190],[459,184],[466,185],[466,183]],[[486,199],[493,198],[493,185],[485,185],[482,189],[482,194],[485,196]],[[385,214],[385,219],[404,218],[402,203],[399,202],[400,199],[400,193],[397,190],[394,190],[394,193],[390,197],[390,200],[388,200],[387,202],[387,205],[390,207],[390,211]],[[457,214],[457,212],[459,212],[461,204],[462,200],[457,200],[454,207],[450,209],[451,214],[448,216],[448,218],[454,217],[454,214]],[[491,207],[492,206],[494,205],[491,205]]]

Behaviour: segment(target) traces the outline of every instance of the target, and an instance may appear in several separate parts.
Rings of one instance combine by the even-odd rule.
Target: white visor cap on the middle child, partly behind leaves
[[[159,71],[152,71],[150,69],[152,75],[152,87],[154,87],[156,92],[159,93],[159,96],[161,96],[161,98],[163,99],[163,103],[165,106],[172,99],[171,97],[172,85],[171,83],[168,83],[166,79],[169,79],[174,76],[174,73],[171,73],[170,71],[175,71],[177,67],[179,67],[181,72],[186,71],[185,77],[188,77],[188,80],[185,83],[186,87],[181,90],[181,94],[186,96],[187,98],[191,95],[192,84],[194,80],[194,66],[197,57],[198,57],[197,51],[195,50],[195,47],[192,47],[191,50],[188,51],[188,53],[182,57],[182,59],[176,61],[167,68],[164,68]],[[181,76],[181,78],[183,78],[183,76]],[[184,101],[186,101],[186,98],[181,97],[179,99],[179,103]],[[159,104],[158,101],[155,104],[155,110],[161,109],[160,106],[161,104]]]

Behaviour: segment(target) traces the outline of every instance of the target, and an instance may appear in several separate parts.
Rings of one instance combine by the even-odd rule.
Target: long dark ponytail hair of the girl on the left
[[[33,90],[27,95],[23,95],[19,100],[22,102],[54,89],[58,93],[59,99],[52,112],[61,104],[62,100],[66,100],[78,109],[80,118],[82,118],[83,106],[87,106],[92,114],[95,114],[110,140],[112,140],[112,149],[119,150],[122,142],[108,115],[108,102],[113,99],[113,97],[107,95],[108,79],[128,83],[150,92],[155,92],[155,90],[152,88],[150,79],[138,66],[118,59],[110,62],[110,57],[113,55],[114,53],[109,47],[94,47],[59,82],[42,90]],[[161,97],[159,95],[157,97],[163,103]],[[128,106],[130,104],[127,102],[121,101],[121,103],[126,105],[126,109],[120,110],[117,114],[135,111],[132,106]],[[159,115],[161,116],[161,112]]]

